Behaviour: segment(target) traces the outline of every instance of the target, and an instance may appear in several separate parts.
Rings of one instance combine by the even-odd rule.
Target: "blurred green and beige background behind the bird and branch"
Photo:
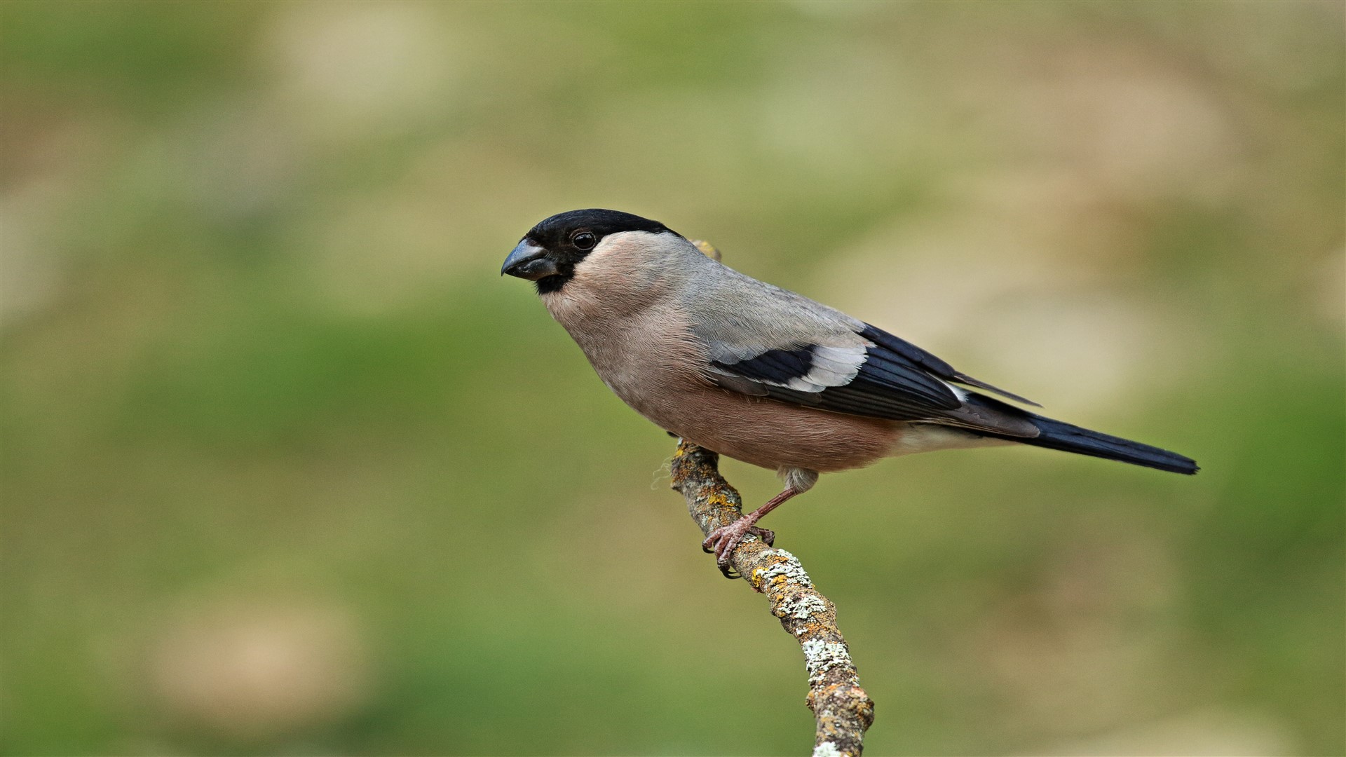
[[[4,3],[4,752],[806,752],[673,440],[497,275],[602,206],[1205,469],[773,515],[870,754],[1342,754],[1342,11]]]

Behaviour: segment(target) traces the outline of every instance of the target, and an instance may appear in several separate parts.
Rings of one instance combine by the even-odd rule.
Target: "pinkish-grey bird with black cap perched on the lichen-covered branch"
[[[785,488],[701,547],[738,544],[821,473],[914,453],[1028,445],[1182,474],[1191,458],[1023,409],[1040,407],[804,295],[759,282],[631,213],[534,225],[501,265],[532,280],[599,378],[669,434],[775,470]],[[992,396],[996,395],[996,396]],[[999,399],[997,399],[999,397]]]

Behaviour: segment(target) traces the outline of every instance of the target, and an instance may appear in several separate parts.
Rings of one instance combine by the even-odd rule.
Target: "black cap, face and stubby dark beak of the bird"
[[[577,265],[604,257],[614,245],[650,246],[641,242],[662,234],[682,240],[658,221],[621,210],[591,207],[557,213],[524,234],[501,265],[501,275],[529,279],[537,284],[537,292],[545,295],[560,291],[575,277]]]

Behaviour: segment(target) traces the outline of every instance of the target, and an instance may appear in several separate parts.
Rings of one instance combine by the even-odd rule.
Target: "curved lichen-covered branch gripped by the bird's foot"
[[[673,488],[686,498],[686,509],[705,535],[743,515],[739,493],[719,470],[720,455],[682,442],[673,455]],[[743,540],[732,555],[734,570],[771,601],[771,614],[798,640],[809,671],[809,709],[817,718],[814,757],[860,757],[864,731],[874,722],[874,702],[860,688],[860,678],[837,630],[836,607],[813,587],[800,560],[769,547],[756,536]]]

